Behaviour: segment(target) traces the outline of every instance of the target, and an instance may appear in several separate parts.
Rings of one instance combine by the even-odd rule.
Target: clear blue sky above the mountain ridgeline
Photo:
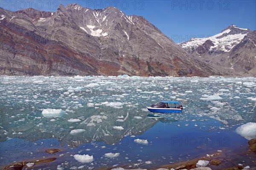
[[[256,0],[1,0],[0,6],[54,12],[60,3],[92,9],[117,7],[127,15],[145,17],[176,43],[218,34],[231,24],[256,29]]]

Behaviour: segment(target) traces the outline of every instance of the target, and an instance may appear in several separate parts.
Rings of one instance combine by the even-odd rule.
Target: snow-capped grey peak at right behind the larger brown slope
[[[212,37],[192,38],[179,45],[215,65],[221,75],[256,76],[256,31],[232,24]]]

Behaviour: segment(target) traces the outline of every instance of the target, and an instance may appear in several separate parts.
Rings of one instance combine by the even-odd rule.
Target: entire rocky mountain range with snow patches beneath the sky
[[[255,31],[233,25],[214,40],[178,45],[144,17],[69,4],[0,8],[0,27],[1,75],[255,76]]]

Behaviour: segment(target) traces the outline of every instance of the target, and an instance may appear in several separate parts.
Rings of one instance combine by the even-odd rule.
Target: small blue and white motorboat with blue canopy
[[[157,104],[152,104],[147,109],[149,112],[157,113],[180,113],[183,107],[177,101],[161,101]]]

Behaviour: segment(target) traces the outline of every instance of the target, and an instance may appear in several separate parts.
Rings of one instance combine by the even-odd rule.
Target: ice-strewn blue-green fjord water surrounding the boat
[[[2,76],[0,167],[56,157],[40,166],[150,168],[239,150],[248,140],[236,128],[256,122],[255,82],[252,77]],[[161,100],[179,101],[182,113],[150,114],[146,107]],[[61,111],[52,114],[53,109]],[[61,151],[45,153],[49,148]],[[76,154],[93,161],[81,163]]]

